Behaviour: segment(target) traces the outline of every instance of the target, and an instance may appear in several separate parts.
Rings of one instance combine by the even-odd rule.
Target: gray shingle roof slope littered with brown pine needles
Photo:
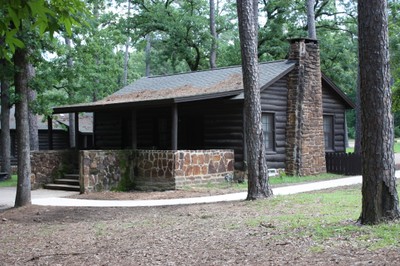
[[[287,60],[260,63],[260,88],[275,82],[291,71],[294,66],[294,61]],[[103,108],[106,105],[145,104],[150,101],[193,101],[237,96],[242,92],[242,68],[236,66],[167,76],[144,77],[100,101],[56,107],[54,112],[85,112]]]

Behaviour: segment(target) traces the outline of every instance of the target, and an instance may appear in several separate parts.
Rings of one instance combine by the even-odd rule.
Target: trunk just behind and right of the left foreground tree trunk
[[[35,68],[32,64],[28,64],[28,80],[35,76]],[[28,103],[32,103],[36,100],[36,91],[29,88],[28,92]],[[37,124],[37,117],[31,106],[29,107],[29,143],[31,151],[39,150],[39,128]]]

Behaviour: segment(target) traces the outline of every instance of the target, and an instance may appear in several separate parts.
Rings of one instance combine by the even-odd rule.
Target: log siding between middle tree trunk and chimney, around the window
[[[261,110],[275,115],[275,151],[267,152],[268,168],[285,168],[287,78],[283,77],[261,92]]]

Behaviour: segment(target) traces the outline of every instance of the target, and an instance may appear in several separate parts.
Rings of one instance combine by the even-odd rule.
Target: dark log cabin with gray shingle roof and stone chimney
[[[325,152],[345,151],[354,104],[321,73],[316,40],[290,46],[288,59],[259,64],[265,159],[290,175],[318,174]],[[103,100],[53,110],[93,112],[95,149],[233,149],[235,169],[245,170],[240,66],[143,77]]]

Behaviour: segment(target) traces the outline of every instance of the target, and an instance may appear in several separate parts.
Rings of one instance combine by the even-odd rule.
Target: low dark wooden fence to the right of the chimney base
[[[325,154],[326,171],[342,175],[361,175],[361,155],[344,152]]]

